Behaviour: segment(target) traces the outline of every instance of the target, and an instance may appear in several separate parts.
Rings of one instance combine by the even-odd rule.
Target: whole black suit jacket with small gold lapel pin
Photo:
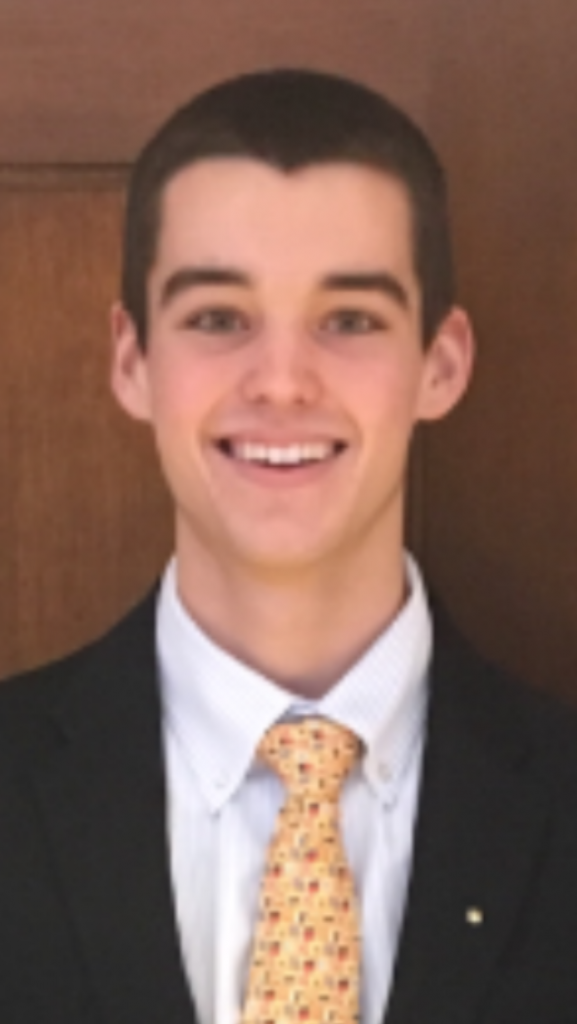
[[[0,687],[0,1024],[195,1022],[153,637],[150,598],[93,646]],[[386,1024],[575,1024],[573,715],[443,624],[430,685]]]

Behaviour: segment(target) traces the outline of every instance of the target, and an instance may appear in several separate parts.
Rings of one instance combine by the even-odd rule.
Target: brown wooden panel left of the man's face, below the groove
[[[170,549],[149,439],[108,390],[122,193],[36,184],[0,189],[0,675],[110,625]]]

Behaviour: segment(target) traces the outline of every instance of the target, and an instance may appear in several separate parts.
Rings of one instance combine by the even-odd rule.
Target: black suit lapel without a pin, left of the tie
[[[150,599],[94,648],[35,781],[107,1024],[194,1024],[168,872]]]

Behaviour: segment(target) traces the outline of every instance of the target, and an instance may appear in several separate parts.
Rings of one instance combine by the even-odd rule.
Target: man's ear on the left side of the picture
[[[111,388],[119,406],[135,420],[150,420],[147,353],[136,325],[121,303],[111,310]]]

